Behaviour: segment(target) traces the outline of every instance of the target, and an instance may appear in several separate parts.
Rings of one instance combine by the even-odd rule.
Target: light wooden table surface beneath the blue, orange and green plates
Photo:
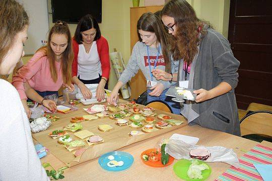
[[[70,117],[77,115],[76,112],[70,114],[73,114],[70,115]],[[106,171],[100,167],[98,164],[98,158],[96,158],[65,169],[64,180],[181,180],[173,171],[173,164],[177,160],[175,160],[174,163],[168,167],[154,168],[145,165],[140,158],[140,155],[144,150],[152,148],[158,141],[161,140],[161,138],[169,138],[174,133],[198,137],[199,141],[197,145],[224,146],[227,148],[232,148],[237,153],[238,157],[244,154],[244,150],[249,151],[257,144],[255,141],[247,140],[220,131],[202,128],[198,125],[186,125],[165,134],[118,149],[118,151],[130,153],[134,157],[134,163],[128,170],[121,172]],[[269,142],[262,142],[261,144],[272,147],[272,143]],[[50,162],[55,169],[65,166],[63,162],[58,160],[53,154],[50,153],[48,153],[46,157],[42,158],[41,162]],[[230,167],[230,165],[226,163],[209,163],[209,165],[212,167],[212,174],[208,180],[214,180]]]

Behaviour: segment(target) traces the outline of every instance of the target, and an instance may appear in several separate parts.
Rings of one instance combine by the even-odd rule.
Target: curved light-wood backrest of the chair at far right
[[[240,127],[241,136],[248,134],[263,134],[272,136],[272,112],[250,112],[241,119]]]

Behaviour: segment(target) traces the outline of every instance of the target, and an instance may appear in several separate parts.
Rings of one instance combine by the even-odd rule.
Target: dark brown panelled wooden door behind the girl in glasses
[[[229,41],[240,61],[235,89],[237,106],[272,106],[272,1],[233,0],[230,4]]]

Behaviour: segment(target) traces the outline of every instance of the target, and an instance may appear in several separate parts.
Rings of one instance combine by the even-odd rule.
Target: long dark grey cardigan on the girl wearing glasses
[[[221,82],[227,82],[232,90],[224,95],[200,103],[194,103],[191,109],[199,114],[194,123],[215,130],[240,136],[240,124],[234,88],[238,83],[240,62],[233,56],[230,44],[220,33],[205,26],[207,35],[199,45],[199,53],[194,60],[193,89],[210,90]],[[181,68],[183,63],[181,62]],[[180,76],[179,76],[180,78]],[[189,82],[190,84],[190,82]]]

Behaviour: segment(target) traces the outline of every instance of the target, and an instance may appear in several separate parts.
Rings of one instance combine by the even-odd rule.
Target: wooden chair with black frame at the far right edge
[[[272,142],[272,112],[248,111],[240,120],[241,135],[253,141]]]

